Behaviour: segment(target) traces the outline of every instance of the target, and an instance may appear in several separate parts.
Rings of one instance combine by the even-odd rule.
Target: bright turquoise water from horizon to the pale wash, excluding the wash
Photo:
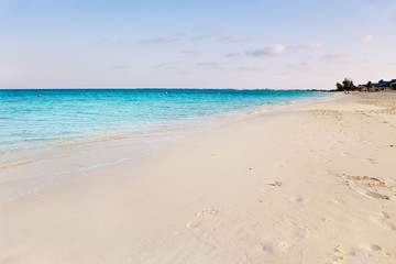
[[[0,161],[89,136],[157,130],[165,124],[180,125],[326,95],[202,89],[0,90]]]

